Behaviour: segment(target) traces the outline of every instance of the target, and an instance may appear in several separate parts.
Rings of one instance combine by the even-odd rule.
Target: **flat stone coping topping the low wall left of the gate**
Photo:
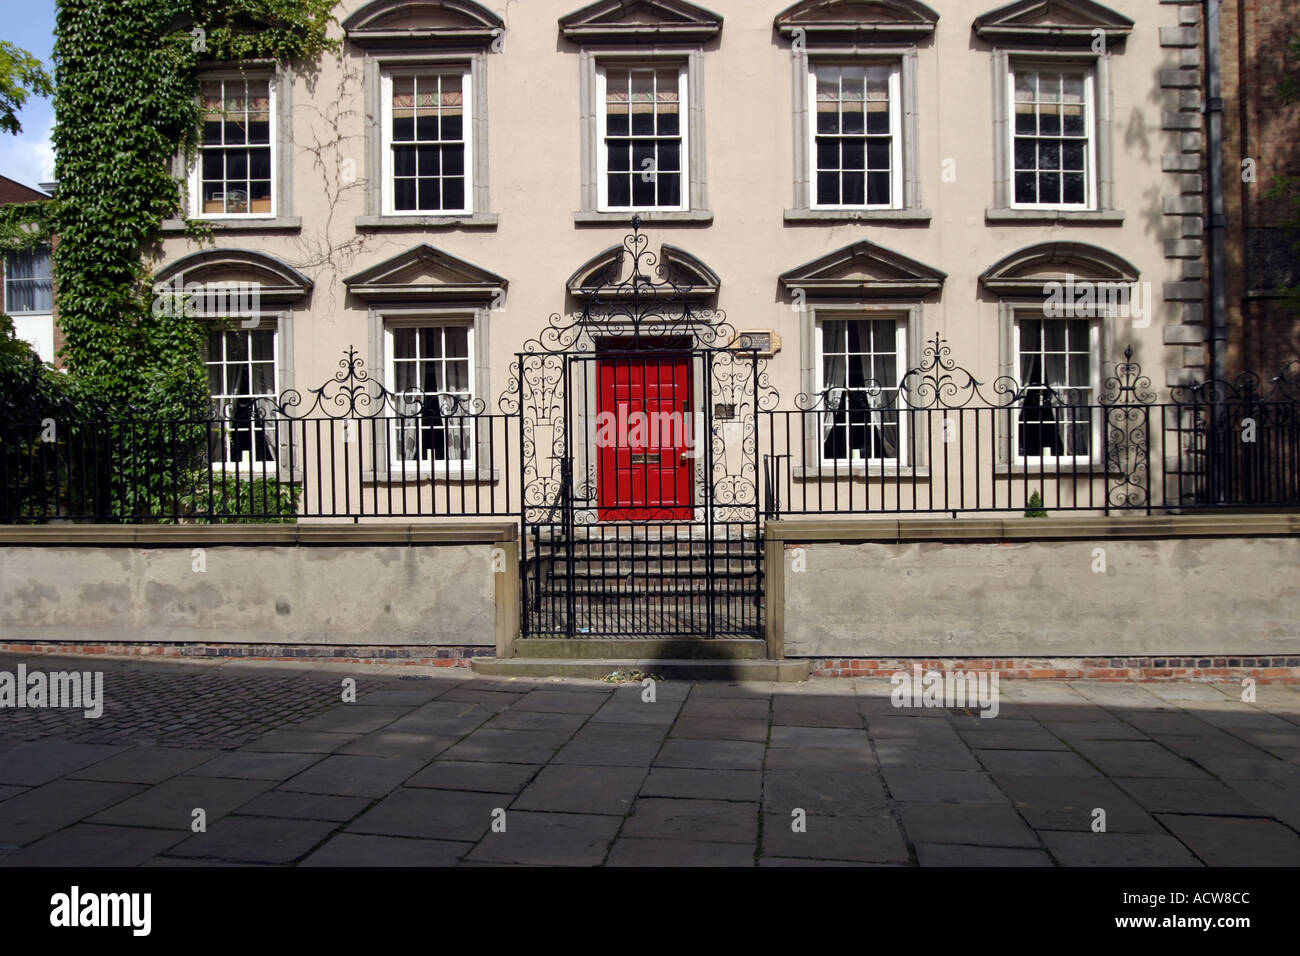
[[[472,545],[516,541],[514,522],[454,524],[42,524],[0,528],[0,548]]]

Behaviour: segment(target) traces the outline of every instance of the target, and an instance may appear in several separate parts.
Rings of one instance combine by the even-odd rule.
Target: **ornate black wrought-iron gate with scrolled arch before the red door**
[[[632,230],[581,307],[516,354],[500,399],[521,419],[523,633],[757,637],[758,414],[776,394]]]

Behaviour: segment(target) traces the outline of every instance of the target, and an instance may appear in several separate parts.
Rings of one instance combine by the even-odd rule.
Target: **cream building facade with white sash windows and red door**
[[[536,503],[567,481],[592,520],[698,518],[720,499],[710,470],[742,475],[755,507],[779,488],[784,510],[810,489],[807,511],[841,493],[866,512],[1024,510],[1035,490],[1149,505],[1180,453],[1161,445],[1121,475],[1141,497],[1117,496],[1106,416],[1205,372],[1199,10],[341,4],[342,51],[309,73],[213,64],[200,155],[177,160],[212,238],[170,221],[153,265],[160,297],[207,289],[233,423],[214,458],[302,477],[277,397],[309,405],[364,368],[393,418],[419,419],[359,438],[348,467],[376,514],[420,511],[378,505],[394,473],[448,511],[448,484],[476,501],[514,485],[517,511],[541,475]],[[228,287],[252,294],[233,306]],[[589,315],[602,289],[636,321]],[[738,397],[719,390],[734,369],[656,355],[728,347],[753,363]],[[564,414],[541,437],[556,416],[524,393],[552,372]],[[961,394],[970,414],[936,414]],[[521,403],[523,442],[464,420]],[[620,408],[692,424],[647,455],[602,437]],[[751,436],[745,408],[794,418]]]

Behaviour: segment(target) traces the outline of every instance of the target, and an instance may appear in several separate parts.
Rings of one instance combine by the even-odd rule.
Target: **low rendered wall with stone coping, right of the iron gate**
[[[781,520],[767,588],[788,657],[1273,663],[1300,656],[1300,516]]]

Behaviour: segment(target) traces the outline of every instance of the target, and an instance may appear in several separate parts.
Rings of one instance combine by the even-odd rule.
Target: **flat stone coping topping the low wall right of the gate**
[[[1075,538],[1284,537],[1300,535],[1300,514],[1196,514],[1069,518],[781,519],[771,541],[1044,541]]]

